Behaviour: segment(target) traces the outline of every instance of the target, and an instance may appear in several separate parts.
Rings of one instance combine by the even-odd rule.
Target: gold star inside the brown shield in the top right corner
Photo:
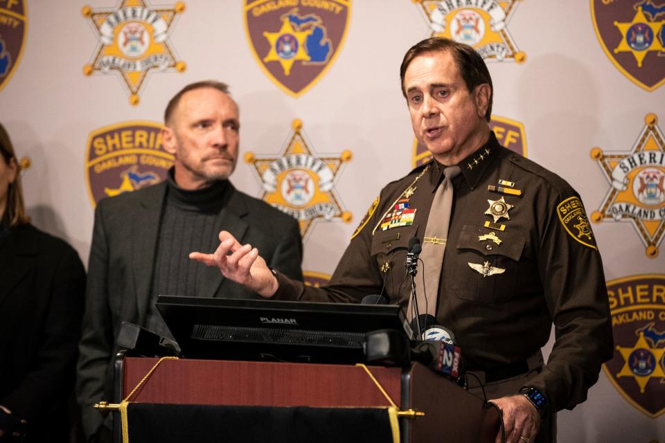
[[[614,21],[614,26],[617,26],[621,32],[621,42],[614,48],[614,53],[632,53],[637,61],[637,66],[641,67],[642,61],[649,51],[665,51],[657,37],[663,23],[663,21],[648,21],[641,7],[637,8],[637,13],[632,21],[628,23]]]

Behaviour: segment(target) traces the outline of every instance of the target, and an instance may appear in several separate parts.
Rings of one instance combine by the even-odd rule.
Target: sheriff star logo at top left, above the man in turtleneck
[[[130,103],[138,105],[148,73],[155,69],[181,73],[186,69],[184,62],[176,61],[168,39],[175,17],[184,10],[181,2],[170,8],[153,8],[144,0],[121,0],[112,10],[84,6],[82,14],[94,26],[99,44],[83,73],[120,74],[130,91]]]

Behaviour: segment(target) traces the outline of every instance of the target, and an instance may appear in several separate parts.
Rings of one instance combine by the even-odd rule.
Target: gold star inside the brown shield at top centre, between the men
[[[291,21],[284,17],[282,27],[276,33],[263,33],[263,37],[270,44],[270,51],[263,57],[263,62],[279,62],[284,70],[284,75],[290,75],[291,66],[296,60],[305,62],[310,60],[310,56],[305,51],[305,39],[309,34],[308,31],[294,30]]]

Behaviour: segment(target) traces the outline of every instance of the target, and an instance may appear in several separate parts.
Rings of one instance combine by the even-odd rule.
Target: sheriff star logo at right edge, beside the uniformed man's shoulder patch
[[[646,125],[632,150],[605,153],[591,150],[598,161],[610,190],[592,221],[629,221],[646,247],[646,255],[655,258],[665,235],[665,137],[655,114],[647,114]]]

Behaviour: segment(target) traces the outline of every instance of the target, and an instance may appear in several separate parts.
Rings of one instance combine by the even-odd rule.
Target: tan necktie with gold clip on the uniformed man
[[[418,313],[436,314],[436,302],[438,300],[439,279],[441,278],[441,267],[443,266],[443,253],[448,237],[450,226],[450,210],[452,208],[452,179],[457,177],[459,166],[449,166],[443,170],[445,177],[439,184],[432,200],[432,208],[429,210],[425,237],[423,237],[423,250],[418,260],[418,274],[416,275],[416,297],[418,297]],[[424,266],[423,266],[424,264]],[[424,267],[424,269],[423,269]],[[423,287],[423,278],[425,287]],[[414,300],[409,299],[407,318],[411,319],[416,314],[412,306]],[[423,327],[421,325],[420,327]]]

